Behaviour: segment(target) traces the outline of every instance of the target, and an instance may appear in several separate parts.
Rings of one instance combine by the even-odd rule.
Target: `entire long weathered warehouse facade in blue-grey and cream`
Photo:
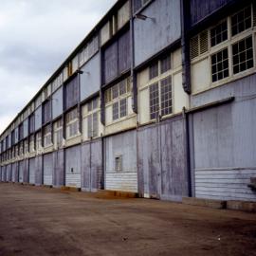
[[[0,179],[256,201],[256,4],[119,0],[0,137]]]

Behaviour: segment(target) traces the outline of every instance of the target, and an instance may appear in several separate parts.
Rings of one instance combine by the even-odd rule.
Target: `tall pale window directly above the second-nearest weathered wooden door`
[[[99,136],[99,103],[98,99],[88,103],[88,116],[87,116],[87,137]]]

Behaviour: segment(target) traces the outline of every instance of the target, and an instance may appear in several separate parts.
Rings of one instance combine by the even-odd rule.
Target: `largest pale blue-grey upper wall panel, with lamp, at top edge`
[[[154,1],[142,11],[153,19],[135,19],[135,64],[141,64],[181,36],[180,1]]]

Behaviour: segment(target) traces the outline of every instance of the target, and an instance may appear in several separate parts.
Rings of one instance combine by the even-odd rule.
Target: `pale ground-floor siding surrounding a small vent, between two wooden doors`
[[[105,138],[106,190],[137,192],[137,132]],[[116,171],[115,157],[122,157],[122,170]]]

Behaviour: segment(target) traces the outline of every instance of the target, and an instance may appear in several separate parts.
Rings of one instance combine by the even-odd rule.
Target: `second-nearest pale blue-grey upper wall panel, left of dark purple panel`
[[[101,86],[100,54],[82,66],[81,101],[98,92]]]

